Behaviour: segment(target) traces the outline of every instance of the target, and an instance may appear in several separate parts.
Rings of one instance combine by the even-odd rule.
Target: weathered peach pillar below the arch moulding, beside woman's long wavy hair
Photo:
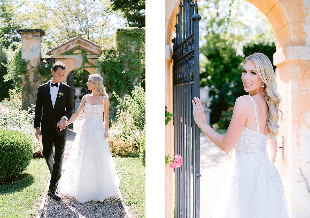
[[[296,56],[301,56],[294,50]],[[274,56],[279,56],[277,53]],[[284,158],[278,148],[275,164],[283,181],[290,216],[298,218],[310,217],[310,59],[292,59],[276,63],[277,91],[282,97],[283,112],[283,121],[278,122],[277,144],[282,144],[283,134]]]

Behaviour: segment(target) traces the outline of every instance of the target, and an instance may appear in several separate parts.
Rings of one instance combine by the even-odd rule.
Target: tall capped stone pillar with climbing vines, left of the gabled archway
[[[27,109],[30,103],[36,104],[37,90],[41,85],[39,65],[42,36],[45,36],[45,32],[43,29],[17,29],[17,32],[21,34],[21,58],[29,61],[28,79],[22,75],[25,84],[22,86],[23,109]]]

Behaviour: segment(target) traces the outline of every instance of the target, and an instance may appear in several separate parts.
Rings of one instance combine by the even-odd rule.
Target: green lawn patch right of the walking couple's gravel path
[[[139,218],[145,218],[145,167],[139,158],[113,158],[121,180],[120,192],[124,202]]]

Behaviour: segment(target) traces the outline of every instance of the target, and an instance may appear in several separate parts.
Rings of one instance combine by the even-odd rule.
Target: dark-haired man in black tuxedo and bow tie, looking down
[[[73,114],[73,98],[71,87],[61,82],[67,66],[57,61],[51,68],[53,77],[47,83],[39,86],[36,108],[34,112],[34,128],[36,137],[42,135],[43,155],[51,173],[51,182],[48,195],[56,200],[61,200],[57,194],[64,158],[64,149],[68,136],[67,120]],[[42,115],[43,107],[43,116]],[[58,125],[62,123],[62,129]],[[41,131],[40,131],[41,124]],[[55,158],[53,159],[53,142]]]

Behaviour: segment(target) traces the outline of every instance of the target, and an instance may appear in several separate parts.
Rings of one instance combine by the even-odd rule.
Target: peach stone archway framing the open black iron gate
[[[276,0],[246,0],[269,20],[277,39],[274,65],[277,66],[277,91],[282,96],[284,124],[280,124],[277,144],[285,135],[284,159],[277,150],[276,166],[282,177],[290,217],[310,217],[310,181],[303,179],[310,170],[310,19],[309,3]],[[171,39],[180,0],[165,2],[165,105],[172,108]],[[173,154],[173,126],[166,125],[165,155]],[[172,217],[172,170],[165,168],[165,216]]]

